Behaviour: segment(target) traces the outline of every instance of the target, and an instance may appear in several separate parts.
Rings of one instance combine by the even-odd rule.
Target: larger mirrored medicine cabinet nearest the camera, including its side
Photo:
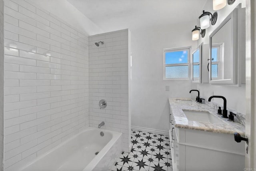
[[[241,65],[245,63],[245,18],[245,8],[239,4],[210,34],[210,84],[240,86],[238,78],[244,72]]]

